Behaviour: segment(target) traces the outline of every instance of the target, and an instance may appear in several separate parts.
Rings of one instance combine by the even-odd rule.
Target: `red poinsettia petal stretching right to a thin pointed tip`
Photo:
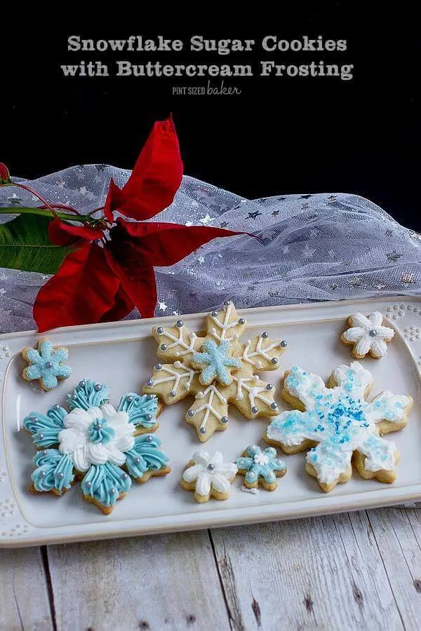
[[[156,267],[173,265],[212,239],[243,234],[211,226],[163,222],[138,224],[121,218],[117,223],[110,231],[112,240],[131,243],[141,257]]]

